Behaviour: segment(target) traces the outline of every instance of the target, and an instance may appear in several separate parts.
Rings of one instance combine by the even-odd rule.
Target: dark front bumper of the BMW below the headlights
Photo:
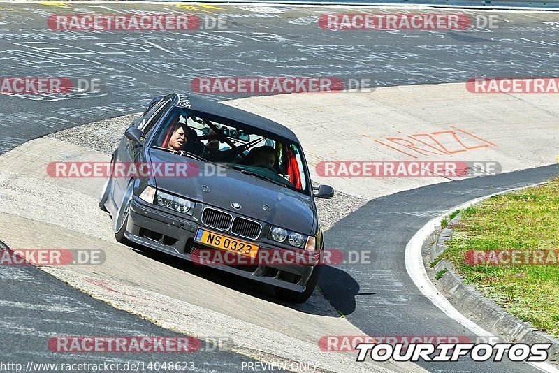
[[[213,249],[194,241],[198,228],[211,231],[200,224],[194,217],[177,217],[159,207],[148,205],[137,196],[133,197],[128,224],[124,235],[131,242],[141,244],[151,249],[163,251],[167,254],[194,261],[198,249]],[[226,233],[225,235],[235,237]],[[247,241],[241,237],[238,240]],[[263,242],[257,242],[259,251],[284,250]],[[219,250],[219,249],[213,249]],[[273,257],[273,252],[268,257]],[[196,261],[194,261],[197,263]],[[223,263],[203,263],[212,268],[218,268],[245,278],[254,279],[264,284],[270,284],[291,291],[303,293],[314,265],[302,264],[270,264],[255,263],[254,265],[225,265]]]

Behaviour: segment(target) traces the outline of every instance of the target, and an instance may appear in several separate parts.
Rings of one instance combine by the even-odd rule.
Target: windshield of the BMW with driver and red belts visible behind
[[[306,165],[298,144],[280,137],[263,136],[242,124],[208,119],[187,108],[174,108],[152,140],[152,147],[187,152],[306,193]],[[187,155],[188,155],[187,154]]]

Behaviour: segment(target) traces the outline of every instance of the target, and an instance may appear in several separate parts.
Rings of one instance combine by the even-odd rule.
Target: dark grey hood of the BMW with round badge
[[[237,170],[224,167],[217,170],[213,163],[154,149],[150,149],[150,160],[152,163],[189,162],[200,169],[200,175],[195,177],[157,177],[158,189],[291,231],[314,234],[315,216],[310,196]],[[232,203],[238,203],[240,209],[234,209]]]

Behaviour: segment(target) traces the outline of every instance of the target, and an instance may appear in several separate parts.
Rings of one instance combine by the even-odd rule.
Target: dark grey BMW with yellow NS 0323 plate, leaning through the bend
[[[133,172],[130,170],[133,169]],[[324,242],[305,155],[285,126],[183,94],[155,98],[112,155],[99,207],[115,237],[305,302]]]

